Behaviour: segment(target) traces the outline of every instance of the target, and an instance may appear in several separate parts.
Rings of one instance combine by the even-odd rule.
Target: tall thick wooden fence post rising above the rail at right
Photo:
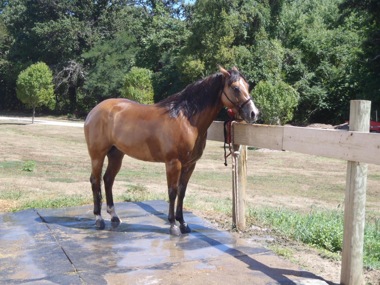
[[[350,131],[369,132],[371,102],[352,100]],[[367,163],[347,161],[340,284],[358,285],[363,272],[363,238],[366,207]]]

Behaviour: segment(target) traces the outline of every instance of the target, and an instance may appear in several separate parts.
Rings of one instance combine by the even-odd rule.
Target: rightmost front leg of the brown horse
[[[190,233],[191,229],[187,225],[187,223],[184,220],[184,214],[182,213],[182,208],[184,204],[184,198],[185,198],[185,192],[187,188],[187,183],[193,174],[195,168],[195,163],[187,166],[185,168],[182,168],[181,174],[179,177],[179,185],[178,185],[178,192],[177,192],[177,209],[176,209],[176,220],[180,223],[179,229],[181,233]]]

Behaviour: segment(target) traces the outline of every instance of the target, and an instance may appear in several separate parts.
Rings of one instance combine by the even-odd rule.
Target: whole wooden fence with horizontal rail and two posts
[[[245,230],[247,146],[347,160],[340,284],[361,284],[367,163],[380,165],[380,134],[369,133],[369,121],[370,101],[353,100],[348,131],[232,123],[234,225]],[[224,141],[223,122],[211,124],[207,139]]]

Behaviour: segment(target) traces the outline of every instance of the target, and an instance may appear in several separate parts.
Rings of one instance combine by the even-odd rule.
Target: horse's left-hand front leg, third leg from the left
[[[174,215],[174,203],[176,202],[178,180],[181,172],[181,163],[178,159],[173,159],[165,163],[166,166],[166,180],[168,182],[168,194],[169,194],[169,214],[168,220],[170,223],[170,234],[181,234],[180,229],[176,224],[176,218]]]

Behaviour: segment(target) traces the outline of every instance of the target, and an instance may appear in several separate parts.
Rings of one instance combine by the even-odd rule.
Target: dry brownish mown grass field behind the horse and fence
[[[78,127],[28,126],[0,123],[0,211],[30,199],[79,194],[91,200],[90,159],[83,130]],[[26,160],[34,172],[21,171]],[[105,161],[105,166],[107,161]],[[285,206],[309,212],[336,207],[344,198],[346,161],[294,152],[249,150],[247,201],[262,206]],[[369,165],[367,213],[379,215],[380,166]],[[128,185],[142,183],[151,193],[166,193],[165,166],[125,157],[116,177],[114,196]],[[231,198],[231,168],[223,165],[222,143],[208,141],[187,190],[188,196]],[[202,202],[203,203],[203,202]],[[211,203],[204,202],[211,207]]]

